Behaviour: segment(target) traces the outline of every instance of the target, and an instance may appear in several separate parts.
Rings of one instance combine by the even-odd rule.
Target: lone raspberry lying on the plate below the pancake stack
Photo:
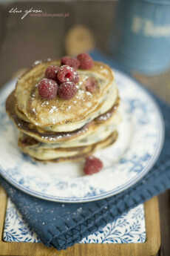
[[[84,165],[84,173],[87,175],[95,174],[101,171],[103,168],[103,163],[97,157],[86,157],[86,162]]]

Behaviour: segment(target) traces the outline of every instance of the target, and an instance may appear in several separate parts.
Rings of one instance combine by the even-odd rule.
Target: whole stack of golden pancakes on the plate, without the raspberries
[[[45,70],[58,61],[41,62],[18,79],[6,110],[20,131],[18,145],[24,153],[41,161],[79,160],[117,140],[118,88],[112,70],[94,63],[90,70],[78,70],[78,92],[69,100],[38,94]],[[84,87],[89,77],[98,81],[95,93]]]

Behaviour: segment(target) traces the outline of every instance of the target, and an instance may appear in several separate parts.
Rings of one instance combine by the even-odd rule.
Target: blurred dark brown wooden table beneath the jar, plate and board
[[[17,4],[18,10],[33,7],[46,13],[68,13],[64,17],[31,17],[21,19],[21,14],[9,13],[15,4],[0,5],[0,86],[4,85],[18,69],[27,68],[36,59],[61,57],[65,54],[65,39],[76,24],[88,27],[95,39],[95,47],[108,54],[108,39],[113,29],[117,1],[78,1],[55,3]],[[78,40],[84,42],[84,36]],[[88,42],[87,45],[92,42]],[[83,45],[83,44],[82,44]],[[160,76],[132,74],[170,103],[170,71]],[[160,86],[161,85],[161,86]],[[161,226],[161,256],[170,255],[170,192],[159,196]],[[144,256],[144,255],[143,255]]]

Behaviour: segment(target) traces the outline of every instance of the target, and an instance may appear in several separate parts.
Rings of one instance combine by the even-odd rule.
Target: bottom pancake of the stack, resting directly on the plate
[[[95,144],[76,147],[76,148],[35,148],[33,145],[37,145],[37,141],[27,135],[21,134],[18,140],[18,146],[25,154],[29,154],[35,160],[40,161],[77,161],[90,154],[93,154],[96,150],[106,148],[112,145],[118,138],[118,131],[114,131],[105,140],[97,142]]]

